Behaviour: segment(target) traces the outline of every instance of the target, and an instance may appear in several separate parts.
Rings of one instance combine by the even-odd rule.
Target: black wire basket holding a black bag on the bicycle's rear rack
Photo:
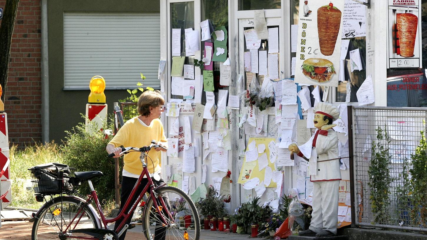
[[[59,194],[73,191],[70,178],[74,176],[74,168],[66,164],[41,164],[30,168],[29,171],[35,193]]]

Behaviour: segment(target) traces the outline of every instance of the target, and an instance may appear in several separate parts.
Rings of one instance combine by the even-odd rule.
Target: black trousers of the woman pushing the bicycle
[[[126,200],[131,195],[133,187],[135,186],[137,181],[138,181],[137,178],[130,178],[130,177],[126,177],[126,176],[122,177],[122,188],[121,188],[121,192],[120,192],[120,210],[119,210],[119,212],[122,211],[122,208],[124,207]],[[139,194],[142,192],[142,190],[147,185],[147,183],[148,183],[148,180],[146,178],[142,179],[139,186],[137,186],[137,191],[135,192],[135,195],[134,195],[132,201],[130,202],[128,208],[126,208],[125,213],[127,211],[129,211],[129,209],[132,207],[132,203],[136,201]],[[163,179],[160,179],[160,181],[156,181],[156,183],[162,184],[162,183],[164,183],[164,181],[163,181]],[[164,199],[164,201],[169,207],[169,199]],[[159,204],[159,202],[158,202],[158,204]],[[133,214],[134,214],[134,211],[132,211],[131,216],[133,216]],[[160,217],[157,217],[157,219],[160,219]],[[123,220],[124,220],[124,218],[121,218],[121,219],[116,221],[116,223],[114,224],[114,231],[117,229],[117,227],[120,225],[120,223],[123,222]],[[132,221],[132,217],[129,217],[129,219],[126,221],[125,224],[129,224],[131,221]],[[120,236],[119,240],[125,239],[126,231]],[[155,240],[164,240],[166,237],[166,228],[156,228],[154,234],[155,234]]]

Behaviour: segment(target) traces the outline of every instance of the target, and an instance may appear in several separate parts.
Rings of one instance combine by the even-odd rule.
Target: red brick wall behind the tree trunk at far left
[[[41,0],[19,1],[4,94],[10,145],[41,141]]]

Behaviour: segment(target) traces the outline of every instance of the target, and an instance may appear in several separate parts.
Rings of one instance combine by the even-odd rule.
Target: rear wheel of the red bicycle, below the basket
[[[59,234],[70,225],[83,204],[84,202],[79,199],[66,196],[53,199],[52,202],[44,205],[40,216],[32,225],[32,240],[59,239]],[[81,228],[99,228],[94,213],[87,206],[83,208],[68,230]],[[75,236],[91,237],[85,234],[75,234]],[[68,239],[73,239],[73,235],[69,234]]]

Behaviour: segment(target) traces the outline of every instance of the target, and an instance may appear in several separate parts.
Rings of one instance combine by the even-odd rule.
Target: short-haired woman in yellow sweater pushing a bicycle
[[[122,151],[120,146],[149,146],[152,140],[156,140],[156,144],[167,148],[167,138],[164,135],[163,125],[159,119],[160,114],[164,111],[163,105],[164,99],[159,91],[143,92],[138,99],[138,113],[140,115],[128,120],[125,125],[122,126],[120,131],[117,132],[114,138],[107,145],[106,149],[108,154],[114,153],[114,157],[117,158],[120,156],[120,152]],[[166,149],[158,147],[155,149],[155,151],[150,151],[148,153],[149,158],[147,158],[147,168],[152,174],[160,175],[161,173],[161,167],[159,165],[161,160],[161,152],[159,151],[166,151]],[[139,156],[139,152],[130,152],[124,156],[122,188],[120,194],[120,210],[125,205],[126,200],[129,198],[129,195],[142,172],[142,164]],[[150,158],[152,162],[150,161]],[[164,182],[163,179],[160,181]],[[132,201],[136,200],[137,196],[143,190],[146,184],[147,180],[144,178],[141,181],[141,184],[138,186],[138,190],[135,193],[134,199]],[[127,211],[128,209],[126,209],[125,213]],[[132,217],[126,221],[126,224],[129,224],[131,220]],[[120,225],[122,221],[123,219],[117,220],[114,225],[114,230]],[[156,231],[155,233],[156,239],[164,238],[164,229],[158,230],[159,232]],[[124,240],[125,235],[126,231],[120,236],[119,239]]]

